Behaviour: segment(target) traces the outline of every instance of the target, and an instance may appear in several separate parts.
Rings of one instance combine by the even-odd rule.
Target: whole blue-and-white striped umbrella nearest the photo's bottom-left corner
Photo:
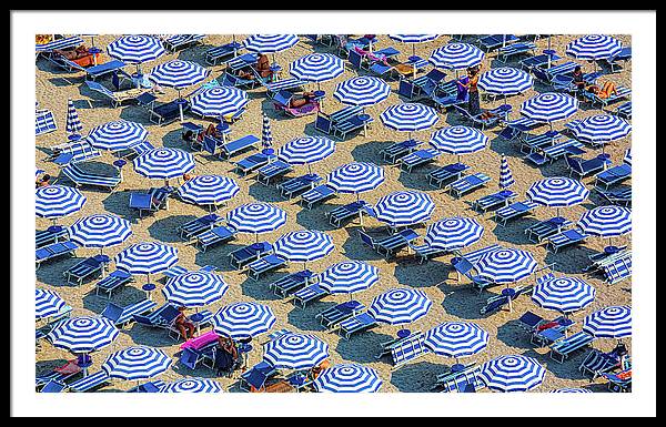
[[[113,322],[105,317],[81,316],[58,324],[48,338],[58,348],[90,353],[113,343],[119,333]]]

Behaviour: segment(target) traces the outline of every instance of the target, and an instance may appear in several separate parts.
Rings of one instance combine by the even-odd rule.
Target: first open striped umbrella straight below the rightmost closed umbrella
[[[513,247],[497,248],[484,254],[476,263],[480,276],[493,283],[514,283],[529,276],[537,267],[536,260],[527,251]]]

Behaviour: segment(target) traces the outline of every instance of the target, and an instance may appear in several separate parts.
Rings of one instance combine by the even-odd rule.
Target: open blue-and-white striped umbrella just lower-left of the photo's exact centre
[[[306,263],[329,255],[335,248],[333,240],[324,232],[301,230],[283,234],[273,244],[275,255],[292,262]]]

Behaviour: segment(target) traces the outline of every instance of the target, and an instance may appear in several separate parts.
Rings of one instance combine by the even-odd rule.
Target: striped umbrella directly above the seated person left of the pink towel
[[[183,307],[203,307],[222,298],[229,285],[222,275],[208,272],[188,272],[169,278],[162,288],[170,303]]]

